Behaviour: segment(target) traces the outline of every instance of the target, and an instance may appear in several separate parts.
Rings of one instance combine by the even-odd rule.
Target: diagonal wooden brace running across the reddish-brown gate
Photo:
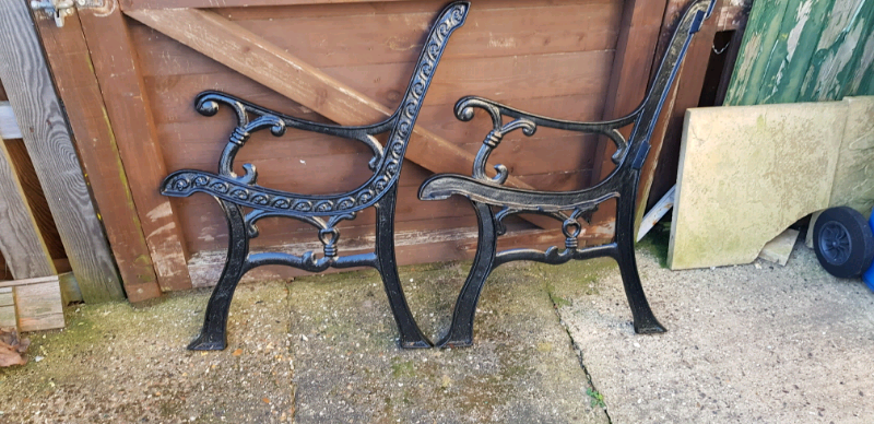
[[[190,9],[138,10],[129,15],[342,125],[378,122],[385,105],[336,81],[263,37],[215,13]],[[214,37],[221,34],[221,37]],[[292,75],[292,76],[290,76]],[[474,155],[415,126],[406,158],[432,170],[466,174]],[[508,186],[531,188],[516,177]],[[542,222],[540,217],[532,221]]]

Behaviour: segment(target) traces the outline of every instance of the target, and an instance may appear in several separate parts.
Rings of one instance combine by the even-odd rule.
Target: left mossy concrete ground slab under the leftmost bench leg
[[[291,422],[285,284],[240,286],[228,348],[189,352],[209,295],[68,308],[67,329],[29,334],[27,365],[0,368],[0,423]]]

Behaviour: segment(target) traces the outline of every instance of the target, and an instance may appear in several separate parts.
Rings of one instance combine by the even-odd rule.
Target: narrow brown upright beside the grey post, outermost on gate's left
[[[44,14],[36,16],[55,84],[64,104],[87,105],[67,108],[80,158],[88,176],[113,254],[130,302],[161,296],[149,246],[143,236],[127,175],[106,119],[101,87],[94,76],[79,16],[63,27]]]

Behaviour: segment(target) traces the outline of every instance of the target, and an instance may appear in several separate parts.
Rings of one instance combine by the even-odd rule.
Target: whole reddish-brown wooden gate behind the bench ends
[[[23,0],[21,0],[23,1]],[[214,283],[226,225],[206,196],[167,199],[170,170],[213,170],[233,129],[227,111],[204,118],[192,101],[221,90],[290,115],[342,125],[375,122],[400,101],[426,31],[444,1],[107,0],[63,27],[38,14],[46,55],[107,235],[132,301]],[[408,151],[398,203],[399,262],[473,255],[475,217],[457,199],[421,202],[432,173],[470,173],[489,126],[460,122],[452,104],[476,94],[544,115],[612,118],[642,98],[669,1],[476,0],[446,50]],[[216,5],[221,4],[221,8]],[[504,141],[493,160],[509,185],[568,190],[609,172],[605,143],[540,130]],[[534,145],[547,155],[532,155]],[[259,165],[259,184],[295,192],[334,192],[369,175],[359,143],[290,131],[260,133],[238,163]],[[605,165],[605,163],[607,165]],[[603,216],[610,216],[610,211]],[[343,228],[346,254],[369,244],[373,212]],[[513,244],[560,244],[557,225],[536,216],[509,223]],[[316,247],[296,222],[259,225],[253,249]],[[543,226],[543,227],[542,227]],[[613,233],[605,217],[583,239]],[[314,243],[315,242],[315,243]],[[260,273],[259,273],[260,272]],[[258,270],[252,278],[296,270]]]

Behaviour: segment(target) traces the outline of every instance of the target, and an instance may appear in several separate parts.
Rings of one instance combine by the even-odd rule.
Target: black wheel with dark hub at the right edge
[[[816,219],[813,243],[819,264],[829,274],[859,276],[874,258],[874,234],[865,217],[848,207],[826,209]]]

